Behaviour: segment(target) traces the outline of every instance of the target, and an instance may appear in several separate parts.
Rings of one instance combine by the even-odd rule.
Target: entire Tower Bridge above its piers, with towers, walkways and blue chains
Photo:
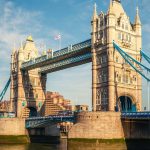
[[[150,119],[149,112],[140,112],[142,77],[148,83],[150,81],[142,71],[145,69],[149,73],[150,68],[141,60],[143,57],[150,63],[150,57],[142,51],[139,10],[136,10],[135,21],[131,23],[121,1],[113,0],[106,14],[101,12],[98,15],[95,5],[91,27],[91,39],[42,56],[39,56],[31,36],[18,50],[13,49],[11,77],[0,95],[2,99],[11,81],[10,111],[20,118],[33,110],[34,117],[43,116],[47,74],[92,62],[94,116],[81,116],[83,120],[101,117],[96,116],[95,112],[113,114],[116,111],[122,112],[119,116],[122,119]],[[29,127],[43,125],[47,121],[60,121],[62,118],[57,119],[43,117],[26,121]],[[72,120],[73,117],[68,119]]]

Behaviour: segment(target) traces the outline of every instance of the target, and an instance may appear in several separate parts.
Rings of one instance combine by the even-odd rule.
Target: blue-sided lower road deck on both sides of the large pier
[[[150,112],[122,112],[121,119],[150,120]],[[43,127],[50,123],[75,122],[75,116],[46,116],[26,119],[26,128]]]

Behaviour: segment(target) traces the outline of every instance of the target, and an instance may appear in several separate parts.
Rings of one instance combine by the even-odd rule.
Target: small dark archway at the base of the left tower
[[[36,117],[37,109],[34,107],[25,107],[23,111],[23,118]]]

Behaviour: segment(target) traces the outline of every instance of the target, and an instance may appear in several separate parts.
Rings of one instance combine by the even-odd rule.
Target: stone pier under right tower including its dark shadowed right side
[[[68,138],[150,139],[149,120],[125,120],[120,112],[81,112]]]

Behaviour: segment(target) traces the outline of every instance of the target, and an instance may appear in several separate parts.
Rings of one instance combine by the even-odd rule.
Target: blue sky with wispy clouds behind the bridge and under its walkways
[[[54,36],[62,35],[62,47],[90,38],[94,2],[98,13],[107,11],[109,0],[0,0],[0,91],[9,78],[10,53],[32,35],[39,51],[58,48]],[[131,22],[139,5],[143,24],[143,49],[150,49],[149,0],[122,0]],[[145,83],[144,93],[146,92]],[[73,104],[91,105],[91,64],[48,74],[47,90],[58,91]],[[8,99],[9,92],[5,99]],[[146,105],[146,96],[144,105]]]

